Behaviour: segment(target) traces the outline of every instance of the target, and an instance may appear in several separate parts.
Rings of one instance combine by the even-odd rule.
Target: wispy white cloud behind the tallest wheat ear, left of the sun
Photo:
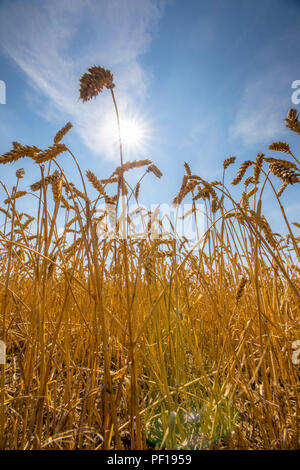
[[[115,122],[108,93],[78,101],[79,78],[91,65],[110,68],[121,113],[134,112],[147,93],[139,63],[152,39],[166,0],[17,0],[0,6],[0,43],[34,89],[36,111],[70,119],[96,154],[115,159],[107,138]],[[46,99],[45,99],[46,98]],[[34,106],[34,105],[33,105]]]

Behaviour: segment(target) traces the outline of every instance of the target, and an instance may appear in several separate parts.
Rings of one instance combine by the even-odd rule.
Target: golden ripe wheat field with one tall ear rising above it
[[[107,88],[119,122],[110,71],[94,66],[80,83],[83,101]],[[286,125],[300,134],[295,110]],[[142,180],[131,188],[127,171],[162,175],[149,159],[123,163],[120,140],[111,177],[84,180],[61,143],[71,127],[46,150],[14,142],[0,157],[41,170],[28,192],[23,169],[11,191],[1,183],[1,448],[299,447],[300,221],[289,223],[280,200],[299,182],[299,161],[288,144],[269,147],[286,158],[259,153],[239,167],[238,201],[224,182],[235,157],[212,183],[185,164],[174,203],[202,199],[208,225],[191,252],[150,232],[98,238],[100,202],[138,202]],[[67,157],[80,188],[63,171]],[[263,215],[268,185],[284,237]],[[18,210],[22,198],[32,213]]]

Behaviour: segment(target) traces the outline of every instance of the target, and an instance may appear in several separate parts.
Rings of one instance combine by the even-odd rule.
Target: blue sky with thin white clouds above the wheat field
[[[297,107],[291,84],[300,79],[299,1],[1,0],[0,25],[0,153],[14,140],[46,148],[71,121],[66,144],[84,170],[108,177],[118,164],[107,136],[115,119],[110,94],[78,101],[79,78],[94,64],[113,72],[121,117],[149,128],[143,147],[125,157],[149,157],[164,174],[145,179],[147,204],[171,202],[184,161],[193,173],[219,179],[224,158],[236,155],[229,183],[239,163],[271,154],[273,141],[297,153],[299,137],[283,119]],[[2,180],[12,185],[23,166],[29,187],[39,174],[27,160],[1,166]],[[298,195],[295,185],[282,200],[299,222]],[[268,194],[263,212],[282,229]]]

